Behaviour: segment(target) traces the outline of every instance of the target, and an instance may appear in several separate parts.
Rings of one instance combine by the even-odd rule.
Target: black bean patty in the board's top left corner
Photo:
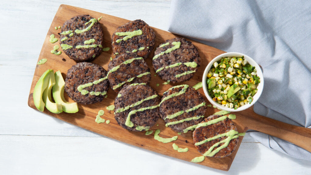
[[[59,42],[61,46],[62,44],[73,46],[72,48],[67,50],[63,49],[63,52],[65,52],[65,54],[67,54],[69,58],[75,60],[76,62],[93,61],[98,55],[100,55],[102,51],[103,31],[98,22],[95,22],[94,26],[92,26],[89,31],[85,31],[80,34],[75,32],[76,29],[82,30],[90,26],[91,22],[89,21],[92,18],[93,17],[91,17],[90,15],[78,15],[72,17],[70,20],[67,20],[63,24],[62,32],[71,30],[73,35],[71,34],[72,36],[70,36],[70,33],[66,35],[60,35]],[[85,25],[86,22],[89,23]],[[61,41],[65,37],[67,37],[68,39]],[[90,39],[94,39],[95,42],[90,44],[84,44],[84,41]],[[100,45],[100,46],[77,49],[76,48],[77,45]]]

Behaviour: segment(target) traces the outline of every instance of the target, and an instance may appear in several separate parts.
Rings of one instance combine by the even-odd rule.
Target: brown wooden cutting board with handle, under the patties
[[[110,57],[114,58],[112,54],[112,49],[111,49],[111,36],[118,26],[121,26],[127,23],[129,20],[106,15],[104,13],[99,13],[99,12],[94,12],[91,10],[78,8],[78,7],[61,5],[49,28],[49,31],[46,35],[41,53],[39,55],[38,61],[43,58],[48,59],[48,61],[45,64],[36,65],[35,74],[32,80],[29,99],[28,99],[28,105],[30,107],[36,109],[34,102],[33,102],[33,97],[32,97],[33,90],[38,79],[47,69],[53,69],[55,72],[60,70],[63,75],[63,78],[65,79],[67,70],[70,69],[72,65],[76,64],[75,61],[73,61],[72,59],[69,59],[69,57],[64,53],[62,53],[61,55],[55,55],[55,54],[50,53],[50,51],[53,50],[54,45],[59,45],[59,41],[54,44],[49,42],[49,39],[50,39],[49,36],[51,34],[54,34],[55,38],[59,39],[58,33],[60,33],[61,30],[60,29],[55,30],[54,27],[62,26],[66,20],[72,18],[73,16],[84,15],[84,14],[89,14],[94,18],[102,17],[99,23],[102,26],[103,32],[104,32],[103,47],[109,47],[110,50],[106,52],[102,52],[100,56],[93,61],[93,63],[99,64],[106,70],[108,69],[108,64],[110,62],[109,58]],[[151,28],[156,33],[155,48],[158,45],[160,45],[160,43],[163,43],[165,40],[168,40],[174,37],[180,37],[178,35],[174,35],[167,31],[163,31],[163,30],[160,30],[154,27],[151,27]],[[209,63],[209,61],[211,61],[217,55],[224,53],[224,51],[213,48],[211,46],[204,45],[193,40],[190,40],[190,41],[193,42],[193,44],[199,50],[199,53],[201,56],[201,67],[194,74],[191,80],[183,82],[183,83],[176,83],[174,85],[188,84],[190,86],[193,86],[197,84],[198,82],[201,82],[202,74],[204,72],[205,67]],[[167,89],[172,87],[173,84],[162,85],[164,81],[158,76],[156,77],[153,76],[155,74],[155,71],[152,67],[153,53],[154,53],[154,50],[151,52],[149,57],[146,59],[146,62],[151,70],[151,75],[152,75],[150,86],[154,88],[160,95],[162,95],[163,92],[165,92]],[[156,83],[160,83],[160,86],[157,87]],[[199,89],[199,92],[202,94],[206,102],[209,104],[207,98],[204,95],[202,88]],[[167,156],[171,156],[174,158],[191,161],[194,157],[201,156],[201,154],[195,149],[193,145],[193,138],[192,138],[191,131],[186,134],[182,133],[181,135],[178,135],[176,132],[174,132],[170,128],[165,127],[165,122],[162,119],[159,119],[157,121],[158,126],[154,125],[150,130],[155,131],[156,129],[160,129],[161,130],[160,136],[164,138],[178,135],[178,140],[173,141],[171,143],[164,144],[162,142],[155,140],[153,138],[153,134],[145,135],[145,132],[131,132],[131,131],[123,129],[115,121],[113,111],[109,112],[108,110],[106,110],[106,106],[114,104],[114,99],[116,96],[117,94],[109,88],[108,97],[105,98],[102,102],[98,102],[92,105],[79,104],[79,112],[75,114],[69,114],[65,112],[62,112],[60,114],[53,114],[49,112],[47,109],[44,109],[43,112],[46,114],[49,114],[50,116],[56,117],[60,120],[77,125],[81,128],[91,130],[100,135],[104,135],[104,136],[107,136],[107,137],[110,137],[116,140],[120,140],[127,144],[132,144],[132,145],[135,145],[135,146],[147,149],[147,150],[151,150],[151,151],[154,151],[160,154],[164,154]],[[67,96],[66,93],[65,93],[65,98],[67,101],[73,102]],[[95,118],[99,110],[105,111],[105,114],[104,116],[102,116],[102,118],[104,118],[105,120],[110,120],[110,124],[106,124],[106,123],[97,124],[95,122]],[[215,113],[216,111],[219,111],[219,110],[213,107],[208,107],[205,116],[209,116]],[[311,151],[311,144],[310,144],[311,143],[311,129],[293,126],[293,125],[289,125],[289,124],[285,124],[279,121],[269,119],[267,117],[259,116],[256,113],[254,113],[253,107],[248,108],[247,110],[244,110],[244,111],[233,112],[233,114],[236,114],[237,116],[236,120],[233,120],[233,122],[237,126],[239,132],[246,132],[249,129],[258,130],[260,132],[270,134],[270,135],[279,137],[281,139],[290,141],[308,151]],[[207,157],[205,158],[203,162],[200,162],[198,164],[228,171],[235,157],[235,154],[237,153],[239,149],[239,145],[241,144],[242,139],[243,137],[240,136],[238,146],[236,150],[233,152],[233,154],[231,154],[230,156],[225,157],[225,158],[208,158]],[[172,148],[173,143],[176,143],[181,148],[187,147],[189,148],[189,151],[185,153],[179,153]],[[243,150],[240,150],[240,151],[243,151]]]

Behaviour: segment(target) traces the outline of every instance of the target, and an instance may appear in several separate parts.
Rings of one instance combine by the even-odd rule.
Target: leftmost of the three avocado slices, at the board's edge
[[[39,111],[44,111],[45,103],[42,100],[43,91],[48,87],[49,84],[49,73],[53,71],[51,69],[46,70],[39,78],[37,84],[35,85],[34,93],[32,94],[34,98],[34,103]]]

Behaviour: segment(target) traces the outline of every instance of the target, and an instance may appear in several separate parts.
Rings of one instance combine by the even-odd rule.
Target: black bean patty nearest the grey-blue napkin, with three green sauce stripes
[[[174,47],[172,42],[180,42],[179,49],[173,50],[170,53],[164,53],[160,55],[158,58],[153,59],[152,64],[156,70],[160,68],[165,68],[166,66],[170,66],[175,63],[181,63],[176,67],[168,67],[167,69],[162,69],[157,74],[160,78],[167,81],[169,80],[171,83],[180,83],[189,80],[193,77],[193,73],[189,73],[186,75],[180,75],[187,71],[197,71],[198,67],[200,67],[200,55],[197,51],[197,48],[190,42],[185,40],[184,38],[174,38],[170,40],[166,40],[164,43],[160,44],[159,47],[156,48],[155,56],[160,54],[161,52],[165,52],[166,50]],[[167,45],[167,43],[169,43]],[[162,46],[162,47],[161,47]],[[155,58],[155,57],[154,57]],[[183,63],[195,62],[197,64],[196,67],[187,66]]]

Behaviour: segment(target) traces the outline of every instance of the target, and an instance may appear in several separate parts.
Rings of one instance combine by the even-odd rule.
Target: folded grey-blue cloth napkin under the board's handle
[[[254,111],[311,128],[311,1],[172,0],[169,31],[226,52],[241,52],[263,68]],[[296,158],[311,153],[253,131],[265,146]]]

